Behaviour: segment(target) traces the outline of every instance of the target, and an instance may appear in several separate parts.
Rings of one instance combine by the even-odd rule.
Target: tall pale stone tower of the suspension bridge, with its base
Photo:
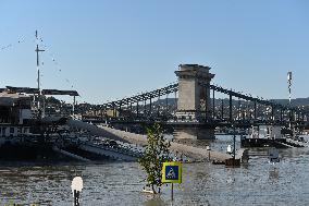
[[[214,74],[210,68],[198,64],[181,64],[175,71],[178,77],[178,101],[175,128],[177,138],[213,138],[214,129],[206,129],[210,113],[210,84]],[[182,123],[183,122],[183,123]]]

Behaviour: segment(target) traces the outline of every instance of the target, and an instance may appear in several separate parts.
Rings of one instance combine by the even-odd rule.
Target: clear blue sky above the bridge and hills
[[[165,86],[181,63],[265,98],[287,98],[291,70],[294,97],[309,96],[306,0],[0,0],[0,87],[36,86],[36,29],[42,87],[89,102]]]

